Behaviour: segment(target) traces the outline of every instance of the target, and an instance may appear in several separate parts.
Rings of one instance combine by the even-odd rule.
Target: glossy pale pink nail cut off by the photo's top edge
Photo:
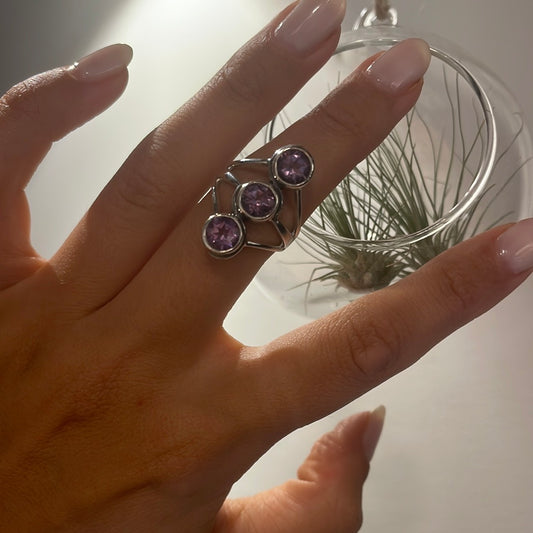
[[[275,37],[298,53],[312,52],[340,27],[346,0],[300,0],[277,27]]]

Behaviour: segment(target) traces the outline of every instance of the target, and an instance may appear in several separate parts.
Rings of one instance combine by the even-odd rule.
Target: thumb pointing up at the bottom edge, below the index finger
[[[368,463],[385,410],[355,415],[324,435],[298,470],[298,479],[251,498],[226,502],[216,533],[354,533],[362,524]]]

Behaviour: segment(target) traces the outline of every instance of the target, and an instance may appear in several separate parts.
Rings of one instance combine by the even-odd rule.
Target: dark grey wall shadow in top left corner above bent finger
[[[33,74],[74,62],[100,26],[127,1],[2,2],[0,94]]]

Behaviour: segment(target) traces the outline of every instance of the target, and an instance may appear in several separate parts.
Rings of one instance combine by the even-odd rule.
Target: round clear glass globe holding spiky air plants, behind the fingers
[[[363,13],[364,17],[364,13]],[[533,214],[533,148],[504,84],[445,39],[364,19],[270,123],[267,140],[306,114],[369,56],[408,37],[433,60],[415,110],[343,180],[300,237],[256,277],[289,309],[319,317],[394,283],[494,225]]]

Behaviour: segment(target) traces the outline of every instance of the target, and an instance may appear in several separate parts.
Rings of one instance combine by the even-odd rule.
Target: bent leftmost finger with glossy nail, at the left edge
[[[39,264],[29,241],[24,187],[54,141],[120,96],[130,60],[131,48],[110,46],[75,68],[26,80],[0,99],[0,288],[15,282],[23,265]]]

